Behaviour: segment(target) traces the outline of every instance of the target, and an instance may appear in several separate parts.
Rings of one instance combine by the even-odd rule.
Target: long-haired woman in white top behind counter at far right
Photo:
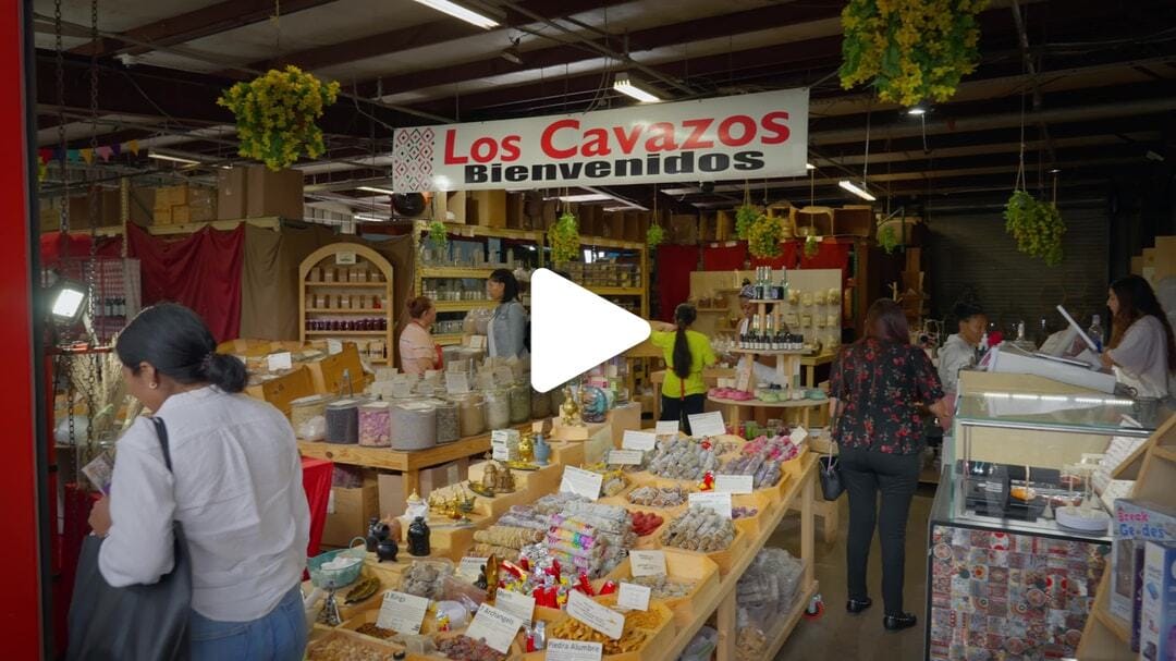
[[[1151,285],[1138,275],[1111,282],[1107,298],[1111,334],[1102,354],[1120,383],[1135,388],[1141,398],[1167,398],[1169,376],[1176,370],[1172,327]]]

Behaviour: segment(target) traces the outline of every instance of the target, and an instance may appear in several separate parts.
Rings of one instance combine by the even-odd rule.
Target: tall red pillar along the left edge
[[[36,268],[35,128],[32,75],[32,2],[0,2],[0,502],[4,503],[5,596],[0,640],[5,657],[44,659],[47,506],[40,341],[33,315]],[[42,439],[41,442],[38,440]]]

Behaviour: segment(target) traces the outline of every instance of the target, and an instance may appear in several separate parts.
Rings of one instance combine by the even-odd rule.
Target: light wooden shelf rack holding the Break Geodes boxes
[[[1130,498],[1176,506],[1176,490],[1171,488],[1176,483],[1176,415],[1161,425],[1140,449],[1138,456],[1124,461],[1111,476],[1129,479],[1137,470]],[[1087,619],[1082,632],[1077,652],[1082,661],[1134,661],[1140,657],[1138,653],[1131,652],[1130,622],[1110,614],[1109,590],[1108,567],[1098,581],[1091,617]]]

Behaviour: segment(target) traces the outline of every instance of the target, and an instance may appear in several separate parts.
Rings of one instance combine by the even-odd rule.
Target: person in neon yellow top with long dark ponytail
[[[690,303],[674,311],[674,323],[655,322],[650,342],[666,358],[666,381],[662,383],[662,420],[677,420],[690,433],[689,415],[702,413],[707,403],[707,385],[702,370],[715,363],[710,339],[690,330],[699,312]]]

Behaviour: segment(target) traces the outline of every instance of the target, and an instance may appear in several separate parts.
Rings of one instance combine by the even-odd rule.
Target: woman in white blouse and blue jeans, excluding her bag
[[[218,354],[182,306],[142,311],[115,350],[131,394],[167,426],[173,472],[152,422],[138,420],[91,515],[106,536],[102,576],[114,587],[156,582],[172,569],[179,520],[192,554],[192,659],[302,659],[310,514],[289,422],[239,394],[245,365]]]

